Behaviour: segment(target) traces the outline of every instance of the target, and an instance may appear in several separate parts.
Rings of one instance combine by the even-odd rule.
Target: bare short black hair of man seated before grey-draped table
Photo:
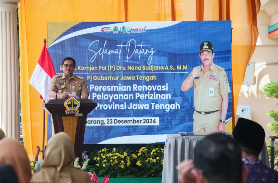
[[[199,141],[193,162],[209,183],[239,183],[242,180],[241,148],[230,135],[215,133]]]

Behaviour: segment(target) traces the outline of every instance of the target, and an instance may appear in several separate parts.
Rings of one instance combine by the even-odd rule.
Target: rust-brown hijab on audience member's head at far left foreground
[[[17,140],[4,138],[0,140],[0,149],[0,165],[11,165],[15,169],[18,182],[29,183],[31,167],[23,145]]]

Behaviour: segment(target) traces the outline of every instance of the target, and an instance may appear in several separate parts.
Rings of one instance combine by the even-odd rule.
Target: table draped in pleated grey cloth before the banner
[[[193,150],[198,140],[205,136],[181,136],[168,134],[164,146],[164,162],[162,170],[162,183],[178,183],[176,167],[183,160],[193,159]],[[269,166],[266,143],[259,157],[265,165]]]

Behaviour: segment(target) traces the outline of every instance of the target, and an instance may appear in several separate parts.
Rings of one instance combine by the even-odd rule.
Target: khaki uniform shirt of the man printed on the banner
[[[199,112],[221,110],[221,95],[231,92],[226,72],[214,63],[206,72],[203,65],[197,66],[197,68],[200,68],[201,71],[191,82],[191,87],[194,85],[195,110]],[[190,75],[192,75],[192,72]]]

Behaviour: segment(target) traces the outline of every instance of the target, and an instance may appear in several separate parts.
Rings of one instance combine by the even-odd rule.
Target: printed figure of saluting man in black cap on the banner
[[[225,70],[213,63],[214,55],[211,42],[204,41],[199,54],[203,65],[194,67],[181,86],[182,91],[194,86],[194,134],[225,132],[231,90]]]

